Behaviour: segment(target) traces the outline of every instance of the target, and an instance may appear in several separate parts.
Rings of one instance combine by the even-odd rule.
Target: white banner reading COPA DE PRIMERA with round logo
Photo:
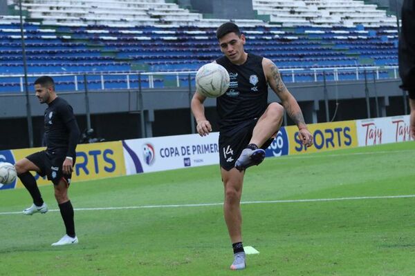
[[[219,132],[122,141],[127,175],[219,164]]]

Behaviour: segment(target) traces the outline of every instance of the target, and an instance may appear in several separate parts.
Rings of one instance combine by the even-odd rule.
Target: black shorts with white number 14
[[[252,138],[252,131],[257,125],[257,119],[252,120],[247,126],[240,128],[237,132],[231,134],[219,133],[219,164],[225,170],[231,170],[235,166],[235,161],[241,155],[241,152],[249,144]],[[274,138],[268,139],[262,149],[266,150],[273,142]]]

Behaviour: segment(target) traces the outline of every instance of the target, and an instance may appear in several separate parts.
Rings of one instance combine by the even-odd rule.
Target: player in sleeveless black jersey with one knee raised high
[[[232,22],[223,23],[216,30],[216,37],[224,56],[214,62],[225,67],[230,75],[230,87],[216,99],[216,110],[219,114],[219,159],[225,192],[223,212],[234,250],[234,262],[230,268],[237,270],[246,266],[239,206],[246,168],[258,165],[264,159],[264,149],[282,125],[284,108],[297,124],[304,145],[311,146],[313,136],[273,61],[245,52],[246,38]],[[282,105],[277,102],[268,104],[268,86],[281,99]],[[191,106],[201,136],[212,131],[205,117],[203,101],[203,95],[194,93]]]

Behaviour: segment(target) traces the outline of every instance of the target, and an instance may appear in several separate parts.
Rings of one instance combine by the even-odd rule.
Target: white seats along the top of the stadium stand
[[[7,0],[19,8],[19,0]],[[203,19],[203,14],[165,0],[30,0],[22,3],[28,17],[58,26],[219,26],[229,19]],[[354,0],[252,0],[259,19],[236,19],[241,27],[255,26],[396,26],[376,5]],[[0,16],[0,22],[19,22],[17,16]]]

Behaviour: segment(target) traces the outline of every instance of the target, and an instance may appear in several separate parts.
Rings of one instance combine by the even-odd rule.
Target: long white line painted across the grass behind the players
[[[282,199],[268,201],[241,201],[241,204],[275,204],[275,203],[297,203],[297,202],[321,202],[321,201],[342,201],[342,200],[362,200],[362,199],[401,199],[412,198],[415,195],[385,195],[375,197],[337,197],[328,199]],[[205,203],[205,204],[170,204],[170,205],[142,205],[142,206],[125,206],[125,207],[99,207],[99,208],[75,208],[75,211],[95,211],[95,210],[129,210],[129,209],[149,209],[149,208],[179,208],[179,207],[203,207],[203,206],[221,206],[223,203]],[[59,210],[49,210],[49,212],[58,212]],[[20,215],[20,212],[4,212],[0,215]]]

